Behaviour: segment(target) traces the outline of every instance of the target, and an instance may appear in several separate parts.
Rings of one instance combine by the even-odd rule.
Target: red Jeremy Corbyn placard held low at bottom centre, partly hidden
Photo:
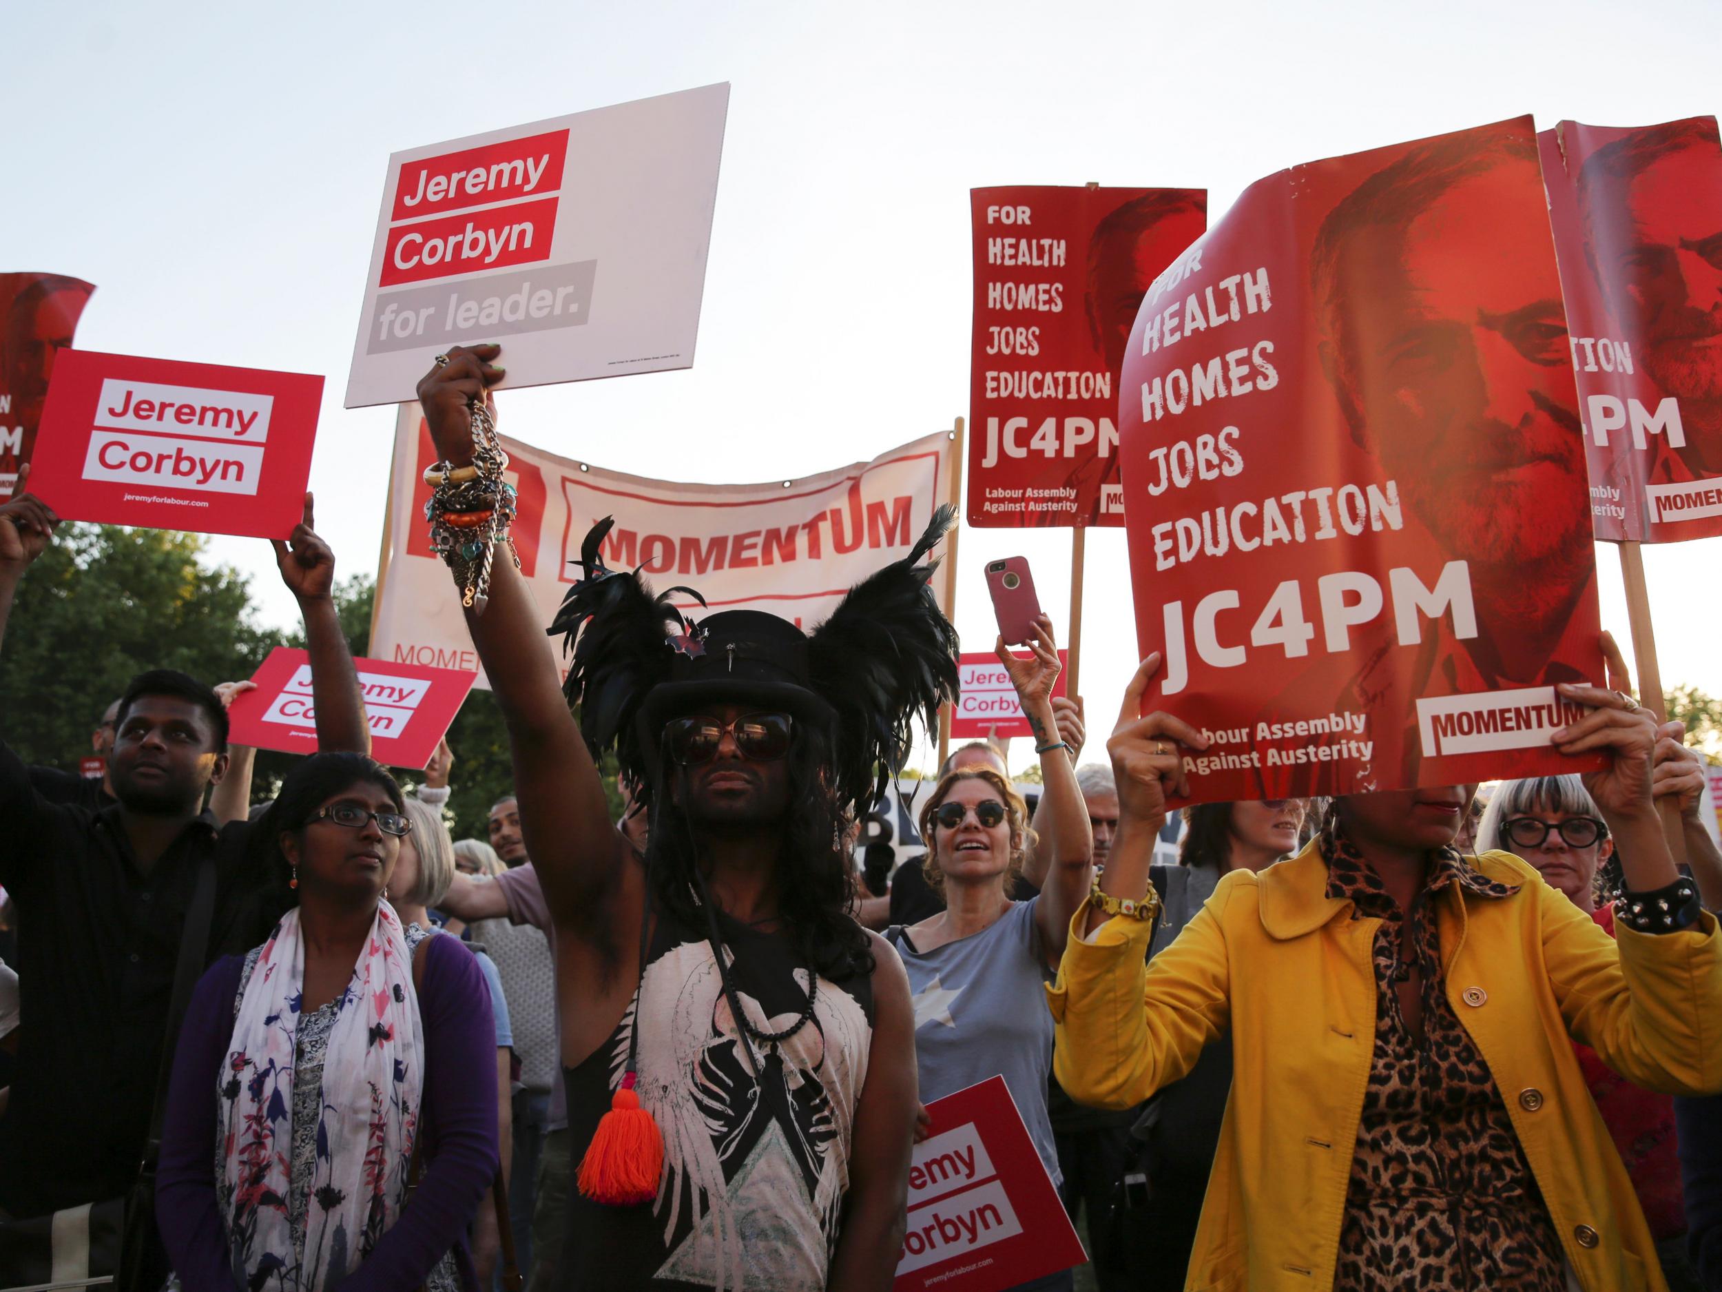
[[[1000,1292],[1087,1259],[1002,1077],[926,1113],[894,1292]]]

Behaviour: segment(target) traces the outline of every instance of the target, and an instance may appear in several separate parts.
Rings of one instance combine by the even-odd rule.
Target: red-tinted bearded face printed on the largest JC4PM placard
[[[1372,174],[1316,238],[1321,360],[1345,422],[1441,563],[1467,563],[1483,625],[1462,636],[1443,615],[1410,668],[1383,667],[1386,637],[1350,656],[1369,663],[1335,687],[1340,708],[1414,715],[1419,696],[1584,680],[1557,663],[1584,653],[1574,610],[1595,598],[1584,443],[1548,214],[1527,191],[1541,195],[1534,140],[1467,131]],[[1395,784],[1415,784],[1415,724],[1400,737]]]

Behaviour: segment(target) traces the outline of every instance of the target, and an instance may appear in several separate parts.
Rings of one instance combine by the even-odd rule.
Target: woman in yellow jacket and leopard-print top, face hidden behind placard
[[[1107,744],[1119,830],[1049,996],[1054,1068],[1083,1104],[1138,1104],[1231,1034],[1186,1289],[1663,1289],[1572,1051],[1655,1090],[1722,1090],[1722,935],[1651,808],[1648,710],[1562,687],[1595,708],[1557,746],[1612,753],[1586,786],[1626,868],[1619,942],[1519,858],[1453,851],[1460,786],[1336,799],[1317,841],[1226,875],[1143,965],[1180,746],[1205,748],[1137,717],[1157,667]]]

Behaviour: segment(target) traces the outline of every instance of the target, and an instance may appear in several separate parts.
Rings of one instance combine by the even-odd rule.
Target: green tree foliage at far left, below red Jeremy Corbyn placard
[[[0,651],[5,739],[67,770],[102,710],[145,668],[210,682],[250,677],[274,644],[246,581],[198,558],[205,539],[162,529],[67,525],[19,586]]]

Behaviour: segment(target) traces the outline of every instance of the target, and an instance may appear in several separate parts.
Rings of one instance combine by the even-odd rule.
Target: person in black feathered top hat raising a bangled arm
[[[468,624],[558,934],[584,1156],[558,1285],[885,1289],[914,1020],[895,953],[847,913],[842,839],[907,755],[911,720],[956,694],[956,632],[918,565],[951,517],[811,636],[751,610],[684,618],[672,594],[697,594],[654,598],[603,567],[601,524],[551,627],[573,649],[565,698],[498,541],[498,353],[451,350],[418,398],[444,458],[432,537],[482,606]],[[610,825],[594,763],[610,749],[649,804],[644,856]]]

